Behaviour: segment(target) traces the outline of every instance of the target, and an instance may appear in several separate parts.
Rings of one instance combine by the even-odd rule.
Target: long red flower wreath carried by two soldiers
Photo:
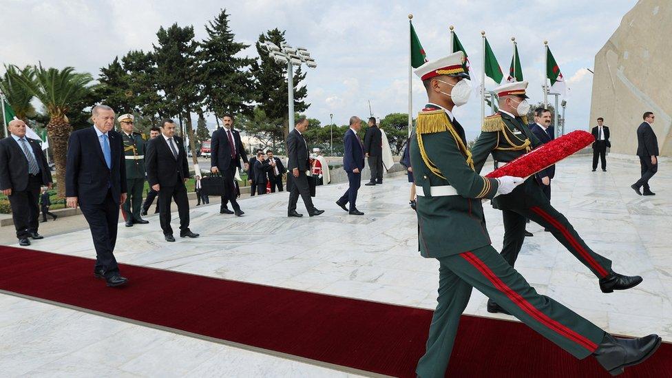
[[[511,160],[504,167],[495,169],[485,177],[498,178],[502,176],[528,177],[550,167],[560,160],[571,156],[576,151],[593,143],[595,138],[589,132],[576,130],[560,138],[551,140],[523,156]]]

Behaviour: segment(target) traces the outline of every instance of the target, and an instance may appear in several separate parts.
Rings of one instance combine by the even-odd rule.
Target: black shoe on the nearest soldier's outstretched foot
[[[621,339],[607,333],[593,355],[609,374],[619,375],[624,368],[640,364],[651,357],[660,342],[662,339],[658,335]]]

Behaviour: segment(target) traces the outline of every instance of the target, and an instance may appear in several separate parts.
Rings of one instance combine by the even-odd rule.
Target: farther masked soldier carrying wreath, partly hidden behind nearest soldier
[[[481,136],[472,147],[476,172],[481,172],[485,159],[492,154],[500,165],[506,164],[542,145],[527,127],[527,81],[506,83],[496,87],[499,112],[485,118]],[[554,209],[539,182],[530,176],[525,183],[506,196],[492,200],[492,206],[502,211],[504,242],[501,254],[514,266],[525,240],[525,219],[533,220],[549,230],[582,264],[599,279],[604,293],[625,290],[642,282],[642,277],[620,275],[611,269],[611,260],[592,251],[562,213]],[[492,300],[487,302],[490,313],[507,313]]]

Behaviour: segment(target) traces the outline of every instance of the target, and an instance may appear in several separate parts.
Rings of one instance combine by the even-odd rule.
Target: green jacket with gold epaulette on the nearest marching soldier
[[[411,137],[410,160],[418,196],[419,249],[426,258],[456,255],[490,244],[482,198],[493,198],[498,180],[476,174],[464,129],[443,109],[427,105]],[[458,195],[432,196],[432,187],[450,185]]]

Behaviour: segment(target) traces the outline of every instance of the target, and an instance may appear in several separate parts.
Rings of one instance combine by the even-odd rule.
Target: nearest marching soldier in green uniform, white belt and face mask
[[[439,260],[439,297],[419,377],[444,377],[472,287],[496,300],[522,322],[577,358],[594,355],[612,374],[638,364],[660,345],[658,335],[618,339],[562,304],[536,293],[490,245],[481,199],[510,193],[522,178],[479,176],[466,147],[464,130],[452,116],[470,96],[456,52],[421,65],[429,103],[418,115],[410,160],[417,186],[419,249]],[[521,353],[521,363],[525,353]],[[487,363],[487,360],[483,360]]]

